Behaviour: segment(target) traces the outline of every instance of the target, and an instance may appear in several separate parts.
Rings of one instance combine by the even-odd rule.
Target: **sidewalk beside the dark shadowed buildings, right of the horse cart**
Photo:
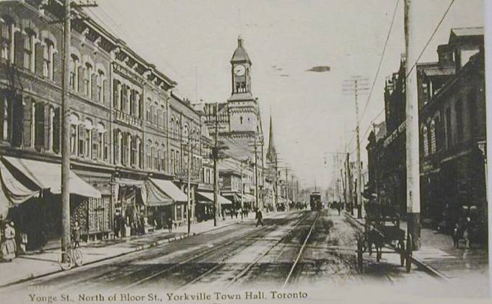
[[[364,219],[357,219],[357,210],[351,216],[364,225]],[[406,221],[400,222],[400,228],[407,231]],[[420,230],[421,247],[413,251],[413,259],[417,264],[427,268],[433,275],[445,279],[464,278],[465,276],[487,275],[487,249],[457,249],[453,246],[451,236],[428,228]]]

